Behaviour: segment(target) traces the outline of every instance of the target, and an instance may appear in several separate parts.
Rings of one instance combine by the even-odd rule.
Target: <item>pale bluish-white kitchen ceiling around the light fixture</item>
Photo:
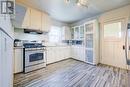
[[[71,0],[69,4],[64,0],[26,0],[26,3],[46,11],[52,18],[66,23],[77,22],[130,4],[130,0],[88,0],[86,8],[77,6],[74,2],[76,0]]]

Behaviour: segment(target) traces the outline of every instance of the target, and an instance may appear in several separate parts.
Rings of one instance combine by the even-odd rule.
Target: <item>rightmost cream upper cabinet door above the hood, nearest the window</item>
[[[49,32],[51,28],[51,19],[48,14],[42,13],[42,31]]]

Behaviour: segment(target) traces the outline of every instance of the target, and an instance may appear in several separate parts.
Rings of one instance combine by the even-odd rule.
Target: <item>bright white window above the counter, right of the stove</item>
[[[52,26],[49,32],[49,42],[59,43],[61,42],[61,28],[58,26]]]

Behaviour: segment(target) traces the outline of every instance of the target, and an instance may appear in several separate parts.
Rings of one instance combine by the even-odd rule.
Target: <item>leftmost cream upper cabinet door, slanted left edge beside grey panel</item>
[[[23,19],[22,28],[29,28],[29,27],[30,27],[30,8],[27,8],[25,17]]]

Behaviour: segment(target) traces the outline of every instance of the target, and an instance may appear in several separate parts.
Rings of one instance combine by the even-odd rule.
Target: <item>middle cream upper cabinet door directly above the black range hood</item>
[[[42,13],[35,9],[31,9],[30,13],[30,28],[35,30],[41,29]]]

